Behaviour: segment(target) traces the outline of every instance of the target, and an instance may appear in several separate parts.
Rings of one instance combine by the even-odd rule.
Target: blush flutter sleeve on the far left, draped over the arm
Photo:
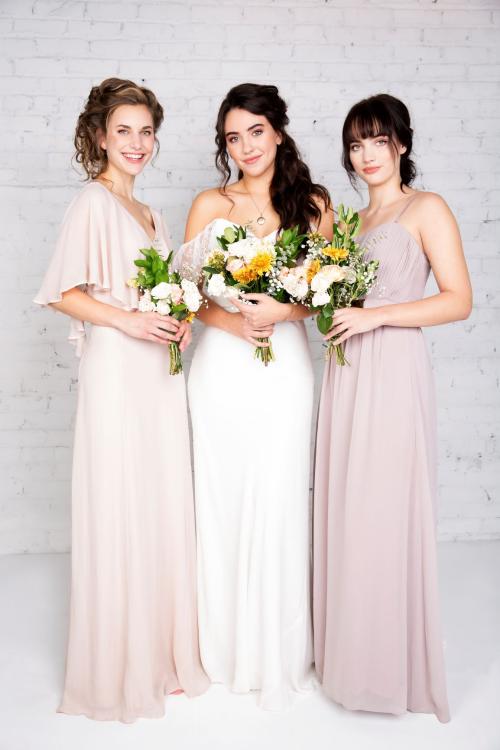
[[[127,271],[122,260],[119,238],[109,225],[106,204],[100,190],[89,185],[68,206],[59,232],[54,255],[34,302],[50,305],[60,302],[63,293],[74,287],[106,291],[117,306],[134,306],[126,285]],[[128,273],[130,276],[130,273]],[[69,340],[80,356],[85,326],[70,318]]]

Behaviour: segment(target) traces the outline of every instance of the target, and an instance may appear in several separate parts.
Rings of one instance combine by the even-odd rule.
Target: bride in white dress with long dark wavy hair
[[[327,190],[311,181],[286,132],[275,86],[241,84],[222,102],[222,187],[195,199],[176,262],[199,272],[217,236],[243,225],[274,240],[288,227],[331,237]],[[231,184],[229,158],[238,169]],[[308,311],[263,294],[209,299],[189,377],[193,424],[200,649],[213,682],[260,691],[281,709],[307,688],[312,663],[309,445],[313,371]],[[276,361],[253,358],[272,336]]]

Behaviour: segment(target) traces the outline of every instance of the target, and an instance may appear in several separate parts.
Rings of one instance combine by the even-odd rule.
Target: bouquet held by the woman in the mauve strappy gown
[[[335,310],[350,307],[366,297],[376,280],[378,260],[363,260],[365,249],[355,242],[360,218],[352,208],[338,209],[331,242],[321,234],[308,235],[308,250],[303,266],[288,272],[287,288],[297,302],[318,313],[316,324],[321,333],[330,331]],[[349,364],[344,347],[335,338],[328,342],[326,358],[335,350],[337,364]]]

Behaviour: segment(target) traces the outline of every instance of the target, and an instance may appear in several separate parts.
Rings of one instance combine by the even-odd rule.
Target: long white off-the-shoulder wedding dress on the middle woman
[[[212,221],[176,266],[199,271],[232,225]],[[203,666],[212,682],[259,690],[260,705],[279,710],[311,683],[313,370],[302,322],[276,324],[272,344],[265,367],[248,342],[204,327],[188,393]]]

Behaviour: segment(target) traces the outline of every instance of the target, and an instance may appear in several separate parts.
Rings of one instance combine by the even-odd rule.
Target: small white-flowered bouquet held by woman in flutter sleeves
[[[170,315],[176,320],[187,320],[190,323],[202,302],[196,284],[170,270],[173,253],[165,260],[152,247],[140,249],[139,252],[144,256],[134,260],[139,271],[137,276],[127,282],[129,286],[139,289],[139,310]],[[170,374],[178,375],[182,372],[179,344],[171,341],[169,351]]]

